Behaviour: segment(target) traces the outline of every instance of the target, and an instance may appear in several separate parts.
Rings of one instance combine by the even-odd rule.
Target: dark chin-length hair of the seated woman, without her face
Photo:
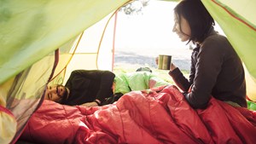
[[[189,42],[203,42],[211,27],[215,25],[212,16],[208,13],[203,3],[201,3],[201,0],[181,1],[174,8],[174,14],[177,16],[179,27],[181,15],[188,21],[191,30]],[[180,31],[182,32],[182,30]]]

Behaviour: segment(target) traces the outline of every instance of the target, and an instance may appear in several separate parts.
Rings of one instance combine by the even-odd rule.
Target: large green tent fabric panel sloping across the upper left
[[[0,84],[118,9],[127,0],[4,0]]]

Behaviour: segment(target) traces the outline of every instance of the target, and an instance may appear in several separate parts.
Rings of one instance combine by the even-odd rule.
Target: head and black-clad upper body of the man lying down
[[[114,77],[114,73],[109,71],[75,70],[65,86],[49,86],[44,98],[69,106],[100,106],[105,98],[113,95]]]

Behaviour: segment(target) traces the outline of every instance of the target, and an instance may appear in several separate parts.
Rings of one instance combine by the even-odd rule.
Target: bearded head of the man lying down
[[[69,89],[67,89],[65,86],[60,84],[51,85],[47,87],[44,99],[61,103],[61,101],[67,100],[68,95]]]

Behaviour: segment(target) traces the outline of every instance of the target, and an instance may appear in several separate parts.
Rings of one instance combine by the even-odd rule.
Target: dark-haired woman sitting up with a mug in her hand
[[[173,65],[177,86],[194,108],[206,108],[211,96],[232,106],[247,107],[245,73],[228,39],[214,31],[214,20],[200,0],[183,0],[174,9],[176,32],[182,42],[197,45],[191,56],[189,80]]]

